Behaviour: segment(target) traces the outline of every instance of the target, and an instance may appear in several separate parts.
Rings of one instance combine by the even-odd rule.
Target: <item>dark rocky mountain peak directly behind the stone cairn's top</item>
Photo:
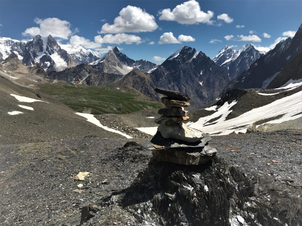
[[[187,93],[193,107],[216,99],[230,79],[201,51],[184,46],[151,72],[157,86]]]

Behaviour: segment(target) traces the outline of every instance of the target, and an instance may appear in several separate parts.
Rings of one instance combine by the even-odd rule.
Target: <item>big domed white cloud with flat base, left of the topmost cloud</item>
[[[104,24],[98,33],[147,32],[157,28],[153,15],[139,7],[128,5],[114,19],[114,24]]]

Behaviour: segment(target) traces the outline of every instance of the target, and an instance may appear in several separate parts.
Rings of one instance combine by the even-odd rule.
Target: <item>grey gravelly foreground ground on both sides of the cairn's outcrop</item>
[[[301,130],[231,134],[213,137],[211,146],[227,168],[234,166],[260,187],[259,194],[246,194],[250,202],[260,200],[292,220],[302,195],[301,135]],[[88,204],[98,212],[86,225],[159,225],[160,216],[147,199],[128,208],[119,206],[120,194],[127,193],[152,156],[144,148],[149,139],[132,140],[142,146],[95,136],[2,145],[0,225],[79,225],[82,207]],[[80,171],[90,173],[84,181],[75,180]],[[286,222],[282,214],[272,225]]]

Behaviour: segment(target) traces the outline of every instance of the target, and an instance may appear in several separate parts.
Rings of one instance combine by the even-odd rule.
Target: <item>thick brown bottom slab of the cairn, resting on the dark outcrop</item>
[[[152,154],[155,159],[162,162],[172,162],[182,165],[198,165],[213,159],[217,153],[217,149],[205,146],[198,152],[186,152],[170,148],[168,150],[154,149]]]

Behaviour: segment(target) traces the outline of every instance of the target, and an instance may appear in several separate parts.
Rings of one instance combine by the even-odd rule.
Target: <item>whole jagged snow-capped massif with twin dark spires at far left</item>
[[[98,52],[79,45],[61,45],[51,35],[24,40],[0,37],[0,57],[14,53],[27,66],[40,63],[45,71],[62,71],[77,64],[88,64],[98,60]]]

